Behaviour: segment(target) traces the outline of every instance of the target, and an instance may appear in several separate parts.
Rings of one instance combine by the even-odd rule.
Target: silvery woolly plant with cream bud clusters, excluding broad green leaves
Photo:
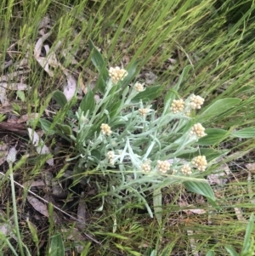
[[[206,156],[196,156],[191,161],[178,158],[184,153],[197,151],[195,142],[207,135],[201,123],[192,124],[193,118],[190,117],[195,109],[201,108],[204,100],[194,94],[185,101],[170,98],[161,112],[156,111],[150,102],[133,101],[146,90],[144,84],[134,82],[122,90],[127,71],[111,68],[109,75],[105,94],[95,104],[94,111],[84,113],[79,108],[76,113],[77,134],[71,135],[71,139],[78,148],[82,145],[78,168],[93,167],[102,175],[110,175],[108,196],[123,200],[135,195],[144,202],[152,217],[145,199],[146,191],[156,191],[156,195],[161,196],[161,187],[194,180],[193,173],[207,168]],[[115,94],[120,92],[121,104],[111,116],[108,102],[113,102]],[[88,138],[89,129],[95,122],[99,122],[100,130]],[[128,193],[121,196],[121,191]]]

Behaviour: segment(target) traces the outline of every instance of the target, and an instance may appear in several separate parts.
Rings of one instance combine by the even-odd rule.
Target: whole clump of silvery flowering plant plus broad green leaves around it
[[[183,183],[189,191],[200,193],[213,203],[215,197],[202,172],[210,166],[208,158],[213,160],[223,152],[203,149],[201,145],[217,143],[228,132],[205,129],[202,123],[226,111],[223,105],[231,107],[240,100],[218,100],[197,115],[204,103],[201,96],[191,94],[186,100],[178,97],[189,65],[165,94],[163,108],[156,110],[153,100],[161,95],[161,86],[146,88],[143,82],[136,81],[138,63],[127,70],[108,70],[93,43],[90,48],[99,71],[94,90],[88,88],[75,114],[70,110],[76,99],[67,102],[63,94],[55,92],[54,99],[61,109],[53,122],[40,120],[46,132],[59,134],[73,145],[76,155],[69,161],[76,160],[74,183],[82,177],[90,182],[92,174],[107,176],[105,185],[97,183],[103,204],[105,196],[111,197],[111,202],[135,197],[144,203],[151,217],[153,211],[146,198],[152,193],[159,222],[161,188],[165,186]],[[65,116],[71,121],[62,122]]]

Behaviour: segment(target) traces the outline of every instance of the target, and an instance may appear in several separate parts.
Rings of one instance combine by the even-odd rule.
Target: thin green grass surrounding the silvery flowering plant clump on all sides
[[[236,18],[233,13],[239,13],[240,7],[241,15]],[[139,79],[148,82],[149,76],[156,77],[150,86],[161,85],[163,92],[173,88],[186,65],[192,65],[192,71],[178,91],[179,96],[200,94],[206,98],[207,105],[225,98],[242,100],[239,105],[205,123],[211,128],[226,130],[254,128],[252,1],[23,0],[18,3],[3,1],[0,9],[0,71],[2,76],[23,72],[6,82],[21,80],[31,87],[25,91],[6,90],[6,99],[12,107],[9,113],[31,116],[37,112],[39,117],[51,120],[56,108],[49,95],[56,89],[63,91],[63,67],[77,78],[80,86],[96,83],[98,71],[92,65],[88,45],[92,40],[100,48],[107,67],[124,65],[128,68],[137,63]],[[41,26],[43,19],[48,24]],[[61,63],[61,66],[50,67],[51,75],[34,56],[35,46],[42,37],[40,30],[43,30],[41,35],[50,32],[45,40],[49,46],[48,55],[56,54]],[[46,48],[43,48],[41,56],[45,55]],[[7,66],[8,61],[11,62]],[[155,103],[159,110],[163,95]],[[18,100],[15,105],[14,100]],[[62,112],[62,116],[59,114],[58,121],[64,122],[67,111]],[[38,118],[35,120],[30,127],[38,130]],[[237,159],[226,156],[207,171],[207,174],[220,172],[224,162],[229,166],[230,172],[225,174],[229,183],[215,187],[220,209],[212,208],[202,196],[185,191],[182,185],[174,185],[162,190],[163,212],[159,225],[156,219],[150,219],[140,202],[132,198],[122,204],[117,200],[109,202],[105,197],[104,210],[97,211],[104,196],[98,195],[97,189],[106,186],[107,179],[97,179],[98,174],[91,171],[89,184],[78,179],[77,185],[71,186],[62,176],[73,167],[65,162],[73,154],[65,139],[50,135],[43,137],[50,149],[57,148],[58,151],[54,156],[55,165],[50,167],[46,163],[48,156],[38,155],[27,136],[4,132],[1,140],[7,141],[5,144],[9,147],[18,145],[17,157],[23,156],[21,162],[14,164],[14,180],[20,185],[32,184],[42,179],[42,175],[48,175],[50,170],[53,176],[48,179],[62,186],[65,197],[52,198],[53,185],[46,178],[43,178],[46,180],[43,186],[31,186],[31,190],[71,215],[77,213],[82,200],[86,206],[86,226],[77,225],[78,221],[53,209],[49,210],[49,217],[38,213],[26,202],[29,195],[26,189],[15,185],[14,195],[8,188],[8,179],[3,179],[1,205],[4,214],[0,236],[5,238],[0,244],[1,251],[22,255],[24,252],[20,248],[26,250],[27,247],[31,255],[49,255],[49,252],[51,255],[195,255],[195,252],[205,255],[213,250],[216,255],[229,255],[224,246],[232,245],[241,252],[247,219],[254,210],[250,196],[255,188],[247,181],[245,168],[254,156],[253,138],[230,138],[213,145],[215,149],[227,149],[230,153],[246,152]],[[8,165],[3,163],[0,169],[5,174]],[[12,207],[11,196],[16,197],[17,209]],[[198,208],[207,212],[190,211]],[[236,214],[236,208],[241,209],[243,219]],[[13,216],[19,219],[19,230]],[[3,230],[6,224],[14,235]],[[59,247],[54,247],[55,244]],[[63,247],[65,254],[61,251]],[[28,252],[25,254],[29,255]]]

